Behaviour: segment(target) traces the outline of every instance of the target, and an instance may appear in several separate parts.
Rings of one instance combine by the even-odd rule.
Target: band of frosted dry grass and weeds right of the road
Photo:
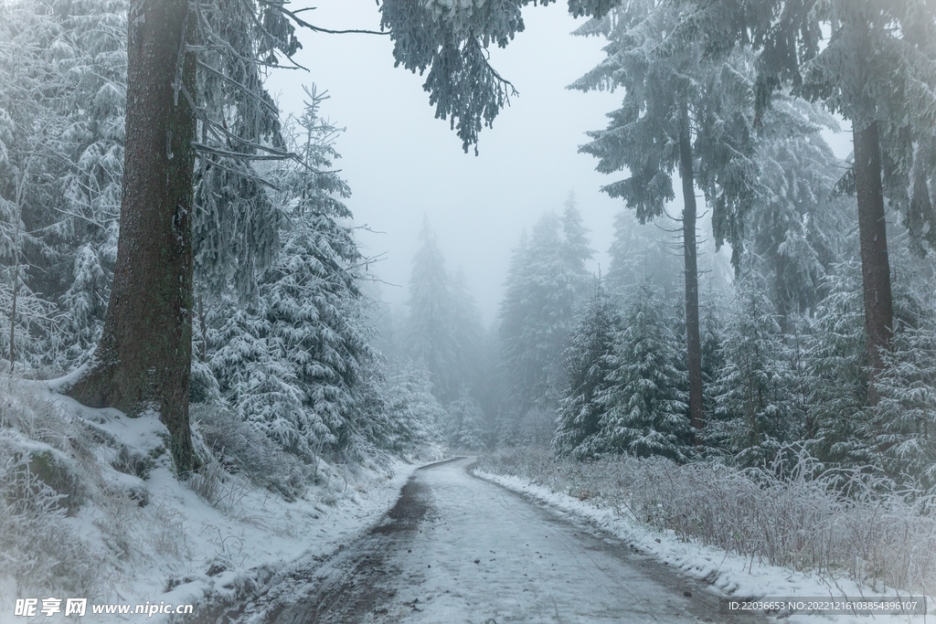
[[[853,481],[845,498],[833,486],[841,473],[813,477],[808,457],[781,477],[664,458],[578,462],[530,448],[481,457],[477,468],[770,565],[843,574],[875,589],[936,589],[933,501],[881,494],[868,480]]]

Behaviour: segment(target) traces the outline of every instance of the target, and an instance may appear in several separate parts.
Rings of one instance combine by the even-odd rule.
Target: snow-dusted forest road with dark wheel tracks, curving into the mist
[[[698,581],[554,509],[468,472],[418,470],[385,520],[244,620],[337,622],[752,622],[718,613]],[[244,614],[246,615],[246,614]]]

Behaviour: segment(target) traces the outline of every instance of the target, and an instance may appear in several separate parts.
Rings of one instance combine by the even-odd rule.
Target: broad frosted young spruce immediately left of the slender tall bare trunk
[[[665,315],[665,303],[644,277],[628,297],[608,358],[610,372],[600,400],[599,430],[578,445],[578,455],[654,455],[677,461],[690,455],[692,428],[687,416],[680,349]]]

